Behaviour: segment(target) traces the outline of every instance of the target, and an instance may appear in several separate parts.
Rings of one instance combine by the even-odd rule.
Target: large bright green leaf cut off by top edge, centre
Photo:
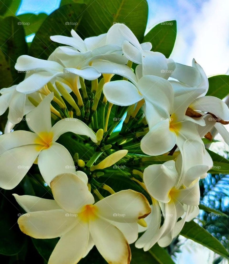
[[[114,23],[124,23],[142,41],[148,17],[147,1],[91,0],[78,27],[82,37],[106,33]],[[90,18],[90,19],[88,19]]]

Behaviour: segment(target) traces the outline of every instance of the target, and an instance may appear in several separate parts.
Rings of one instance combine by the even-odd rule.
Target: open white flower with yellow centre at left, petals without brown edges
[[[26,115],[27,124],[33,132],[17,130],[0,136],[1,188],[17,186],[37,157],[41,175],[48,185],[58,173],[75,172],[70,153],[56,142],[66,132],[86,135],[97,142],[94,132],[81,120],[66,118],[52,127],[52,99],[53,93]]]

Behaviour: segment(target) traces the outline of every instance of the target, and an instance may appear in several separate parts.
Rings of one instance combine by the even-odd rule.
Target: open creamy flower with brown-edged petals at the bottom
[[[48,264],[76,264],[94,245],[108,263],[129,264],[128,243],[137,239],[137,221],[151,211],[147,199],[123,190],[94,204],[85,183],[76,174],[64,173],[51,182],[55,200],[14,195],[29,212],[19,217],[20,229],[34,238],[61,237]]]

